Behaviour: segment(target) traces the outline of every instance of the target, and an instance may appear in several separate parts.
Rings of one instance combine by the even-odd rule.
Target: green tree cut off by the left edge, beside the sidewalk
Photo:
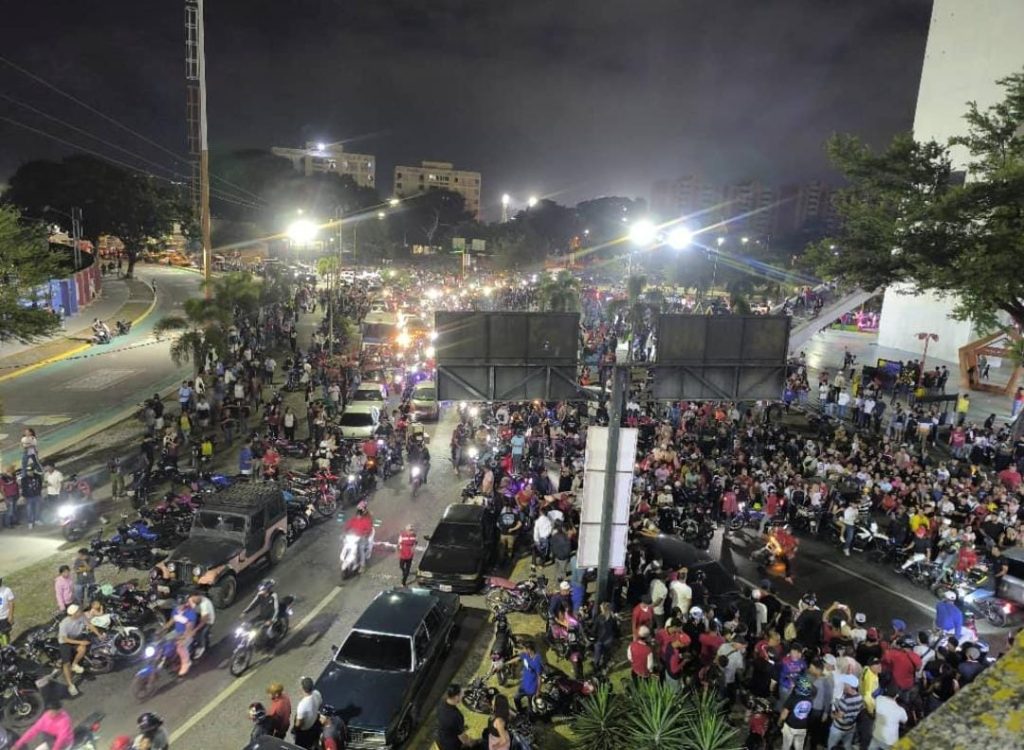
[[[0,206],[0,341],[32,341],[57,329],[59,319],[38,295],[56,268],[44,228]]]

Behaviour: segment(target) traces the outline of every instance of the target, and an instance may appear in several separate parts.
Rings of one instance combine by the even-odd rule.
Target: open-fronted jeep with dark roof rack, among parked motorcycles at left
[[[217,609],[229,607],[241,574],[263,559],[272,566],[285,557],[287,532],[280,488],[234,485],[196,511],[188,539],[157,565],[156,576],[174,593],[202,591]]]

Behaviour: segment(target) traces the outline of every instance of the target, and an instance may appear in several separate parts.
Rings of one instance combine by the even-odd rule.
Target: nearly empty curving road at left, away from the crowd
[[[156,281],[154,310],[127,336],[93,346],[78,357],[54,362],[0,385],[4,424],[0,450],[7,455],[23,427],[32,427],[45,458],[96,426],[124,415],[154,392],[168,388],[191,372],[171,362],[170,340],[158,341],[153,329],[164,317],[181,311],[185,299],[199,295],[199,274],[158,265],[136,266],[136,277]]]

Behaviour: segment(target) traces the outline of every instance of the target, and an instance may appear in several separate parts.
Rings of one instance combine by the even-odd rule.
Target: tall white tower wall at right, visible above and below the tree
[[[918,91],[913,135],[918,140],[945,142],[965,130],[968,101],[982,110],[1002,98],[995,83],[1024,70],[1024,0],[934,0]],[[956,168],[967,153],[952,152]],[[957,361],[957,349],[973,340],[971,325],[948,318],[952,302],[935,294],[907,296],[895,287],[886,291],[879,323],[879,344],[916,351],[915,334],[939,334],[935,356]]]

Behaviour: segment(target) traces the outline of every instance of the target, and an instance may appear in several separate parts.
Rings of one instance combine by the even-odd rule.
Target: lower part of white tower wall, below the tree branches
[[[938,341],[928,344],[928,358],[957,362],[959,347],[974,336],[971,323],[949,318],[952,303],[934,292],[922,295],[900,294],[909,285],[894,285],[886,289],[882,301],[879,326],[879,346],[902,349],[920,357],[924,342],[919,333],[937,333]]]

